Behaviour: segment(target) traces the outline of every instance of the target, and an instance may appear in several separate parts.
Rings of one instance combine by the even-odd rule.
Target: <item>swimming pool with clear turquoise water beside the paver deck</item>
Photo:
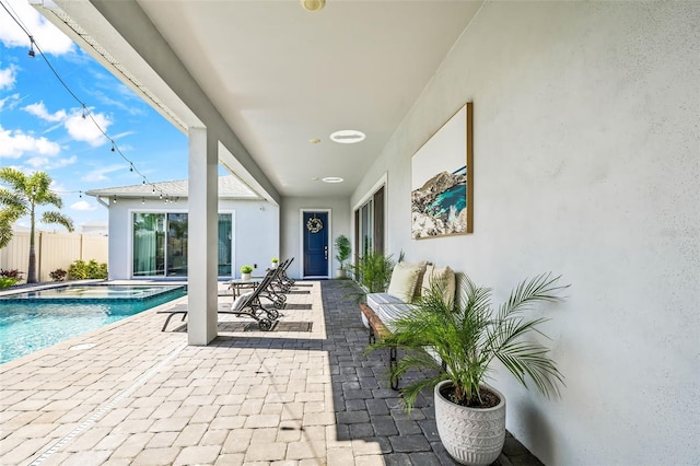
[[[0,298],[0,364],[185,294],[182,286],[88,286]]]

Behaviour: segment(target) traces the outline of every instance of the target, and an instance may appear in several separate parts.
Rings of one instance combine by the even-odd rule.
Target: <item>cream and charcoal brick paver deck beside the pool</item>
[[[220,284],[220,306],[231,303]],[[453,465],[432,397],[411,416],[342,282],[298,282],[275,331],[220,314],[187,346],[187,298],[0,365],[2,465]],[[506,438],[495,465],[540,465]]]

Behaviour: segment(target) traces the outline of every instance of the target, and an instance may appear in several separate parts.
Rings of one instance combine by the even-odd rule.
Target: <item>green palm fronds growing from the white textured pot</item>
[[[460,300],[454,303],[446,303],[440,286],[433,284],[406,316],[394,322],[394,335],[370,351],[390,346],[406,351],[392,377],[412,369],[429,370],[430,375],[401,389],[409,411],[422,389],[444,380],[452,382],[458,404],[478,406],[479,386],[493,360],[501,361],[525,387],[529,378],[545,396],[558,394],[563,377],[548,349],[525,339],[530,331],[541,335],[537,327],[548,319],[526,319],[523,312],[536,303],[560,301],[558,293],[568,286],[556,284],[559,278],[544,273],[522,281],[498,312],[491,304],[491,289],[475,286],[468,277],[460,283]]]

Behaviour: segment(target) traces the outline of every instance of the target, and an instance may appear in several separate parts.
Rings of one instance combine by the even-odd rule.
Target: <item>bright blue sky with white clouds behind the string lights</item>
[[[59,82],[30,39],[0,7],[0,165],[43,171],[63,199],[62,212],[80,231],[106,223],[107,209],[78,191],[187,178],[187,138],[126,85],[47,22],[26,0],[0,0],[34,36],[70,91]],[[27,219],[18,222],[28,226]],[[61,229],[57,225],[45,229]]]

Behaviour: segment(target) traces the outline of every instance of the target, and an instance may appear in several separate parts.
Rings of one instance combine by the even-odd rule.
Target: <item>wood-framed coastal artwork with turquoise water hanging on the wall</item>
[[[413,154],[411,236],[474,233],[472,104],[465,104]]]

